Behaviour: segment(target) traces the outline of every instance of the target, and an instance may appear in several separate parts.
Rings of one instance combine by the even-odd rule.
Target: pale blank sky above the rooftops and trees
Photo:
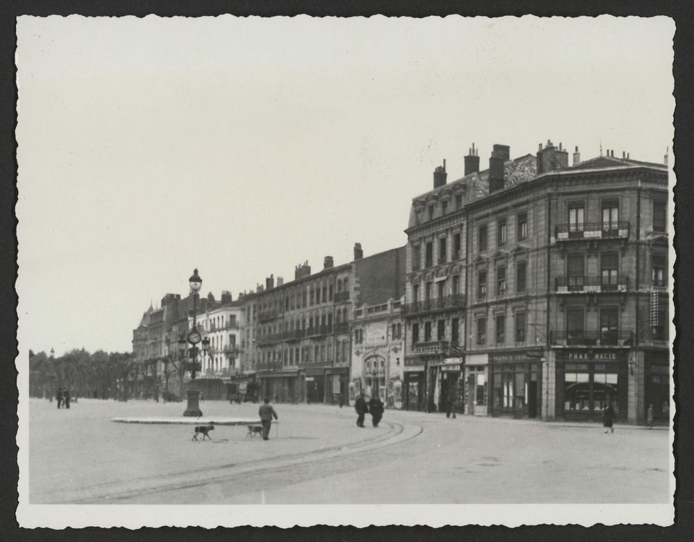
[[[445,158],[672,149],[665,17],[19,17],[20,352],[404,245]],[[671,151],[670,151],[671,153]],[[672,163],[672,158],[670,159]]]

